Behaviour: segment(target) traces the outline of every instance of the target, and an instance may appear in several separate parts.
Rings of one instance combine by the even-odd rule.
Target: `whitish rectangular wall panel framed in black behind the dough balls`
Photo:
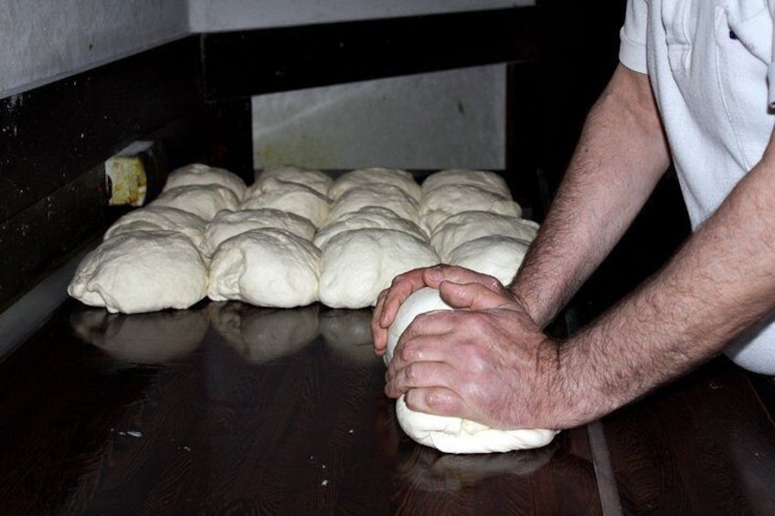
[[[254,97],[256,168],[504,168],[504,65]]]

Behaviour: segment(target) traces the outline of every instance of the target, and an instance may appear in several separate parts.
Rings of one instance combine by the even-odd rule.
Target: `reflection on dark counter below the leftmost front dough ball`
[[[190,353],[207,332],[207,311],[107,313],[82,309],[70,316],[73,330],[86,342],[130,363],[165,363]]]

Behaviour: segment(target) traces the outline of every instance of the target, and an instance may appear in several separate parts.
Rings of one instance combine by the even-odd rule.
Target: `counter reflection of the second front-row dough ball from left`
[[[276,310],[232,301],[208,310],[213,328],[252,363],[295,353],[318,335],[318,305]]]

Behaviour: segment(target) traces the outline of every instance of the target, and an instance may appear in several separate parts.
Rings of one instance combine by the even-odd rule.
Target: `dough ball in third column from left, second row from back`
[[[364,184],[347,190],[331,206],[326,224],[332,224],[342,216],[362,210],[366,206],[382,206],[401,218],[419,224],[417,201],[392,184]]]

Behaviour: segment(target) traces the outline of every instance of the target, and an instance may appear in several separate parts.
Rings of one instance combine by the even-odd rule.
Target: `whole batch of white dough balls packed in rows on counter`
[[[246,184],[224,169],[173,171],[80,263],[69,294],[111,312],[203,300],[292,308],[373,306],[398,274],[440,262],[508,282],[535,237],[498,174],[445,170],[420,185],[396,169],[334,180],[280,166]]]

